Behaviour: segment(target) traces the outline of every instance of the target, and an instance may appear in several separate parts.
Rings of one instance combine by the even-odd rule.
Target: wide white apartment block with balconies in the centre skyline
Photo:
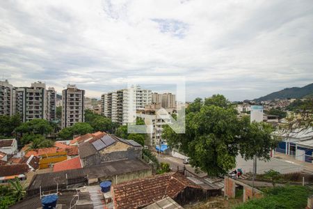
[[[113,122],[126,125],[136,119],[136,109],[144,109],[151,102],[151,91],[140,86],[104,93],[101,100],[102,114]]]

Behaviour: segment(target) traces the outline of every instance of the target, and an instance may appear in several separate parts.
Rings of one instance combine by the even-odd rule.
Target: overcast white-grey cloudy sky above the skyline
[[[0,1],[0,79],[99,98],[129,76],[186,77],[186,100],[310,84],[313,1]]]

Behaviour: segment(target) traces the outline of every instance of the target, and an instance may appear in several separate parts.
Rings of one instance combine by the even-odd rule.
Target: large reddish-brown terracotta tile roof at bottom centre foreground
[[[164,196],[174,199],[186,187],[201,188],[180,173],[166,173],[114,185],[115,208],[141,208]]]

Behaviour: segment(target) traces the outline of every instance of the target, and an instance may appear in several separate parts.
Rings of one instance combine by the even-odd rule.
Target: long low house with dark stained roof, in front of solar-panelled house
[[[122,183],[136,178],[152,175],[152,168],[141,160],[118,160],[106,162],[101,165],[81,169],[70,169],[50,173],[37,173],[31,179],[27,195],[39,194],[56,189],[63,190],[79,185],[90,185],[103,180],[111,180],[112,184]]]

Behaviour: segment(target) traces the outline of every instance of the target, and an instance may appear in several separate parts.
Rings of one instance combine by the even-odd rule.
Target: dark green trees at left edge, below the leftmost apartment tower
[[[6,139],[13,135],[13,131],[21,124],[21,118],[18,114],[14,116],[0,116],[0,136]]]

